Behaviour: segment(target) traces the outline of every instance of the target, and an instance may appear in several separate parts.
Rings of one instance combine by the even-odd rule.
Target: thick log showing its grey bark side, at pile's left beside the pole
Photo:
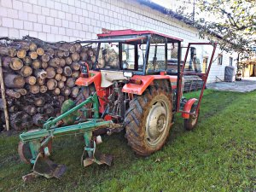
[[[5,75],[4,84],[8,88],[23,88],[25,79],[21,75],[8,73]]]

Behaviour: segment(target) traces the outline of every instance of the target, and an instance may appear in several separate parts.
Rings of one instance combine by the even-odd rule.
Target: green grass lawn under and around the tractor
[[[176,115],[162,150],[139,157],[124,133],[103,137],[98,147],[113,166],[80,166],[83,140],[55,139],[52,158],[65,164],[58,179],[23,183],[31,166],[20,162],[18,135],[0,136],[0,191],[254,191],[256,190],[256,92],[206,90],[195,131]]]

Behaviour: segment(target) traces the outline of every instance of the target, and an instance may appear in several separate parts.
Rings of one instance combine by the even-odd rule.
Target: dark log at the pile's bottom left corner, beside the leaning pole
[[[10,125],[16,131],[21,131],[32,126],[32,117],[23,111],[10,115]]]

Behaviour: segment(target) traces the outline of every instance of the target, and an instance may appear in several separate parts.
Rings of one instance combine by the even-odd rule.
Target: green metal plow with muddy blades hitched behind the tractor
[[[89,109],[84,108],[84,105],[88,103],[92,103],[90,110],[93,113],[93,119],[84,120],[81,116],[86,117],[86,113]],[[49,118],[44,123],[43,129],[27,131],[20,134],[18,148],[20,159],[33,165],[32,173],[22,177],[25,182],[38,176],[60,178],[64,172],[66,172],[66,166],[56,164],[52,160],[49,160],[52,139],[54,137],[79,133],[83,134],[84,152],[81,157],[82,164],[84,166],[90,166],[95,162],[99,165],[111,165],[112,156],[101,154],[96,150],[97,139],[93,137],[93,131],[106,128],[108,132],[112,133],[114,132],[113,130],[122,130],[123,125],[114,124],[112,120],[100,119],[99,102],[96,93],[79,105],[74,105],[73,101],[67,100],[63,103],[61,108],[61,110],[64,108],[66,112],[62,113],[59,117]],[[65,125],[59,126],[61,125],[60,122],[62,122],[62,124],[64,122]],[[98,140],[101,140],[101,138]]]

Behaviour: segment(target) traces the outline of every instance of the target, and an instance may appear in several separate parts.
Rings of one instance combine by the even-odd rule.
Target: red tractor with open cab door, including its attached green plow
[[[187,130],[194,129],[216,44],[189,44],[183,52],[182,41],[158,32],[121,30],[81,42],[96,48],[96,58],[81,66],[77,100],[64,102],[61,116],[46,121],[43,129],[20,134],[21,160],[33,165],[33,174],[60,177],[65,168],[53,166],[48,159],[53,137],[83,133],[84,166],[93,162],[110,165],[110,157],[96,153],[102,134],[125,129],[131,148],[146,156],[166,142],[174,113],[182,113]],[[196,57],[200,51],[210,58],[202,70]],[[184,81],[191,78],[201,82],[201,93],[199,98],[185,99]],[[48,168],[42,170],[42,162]]]

